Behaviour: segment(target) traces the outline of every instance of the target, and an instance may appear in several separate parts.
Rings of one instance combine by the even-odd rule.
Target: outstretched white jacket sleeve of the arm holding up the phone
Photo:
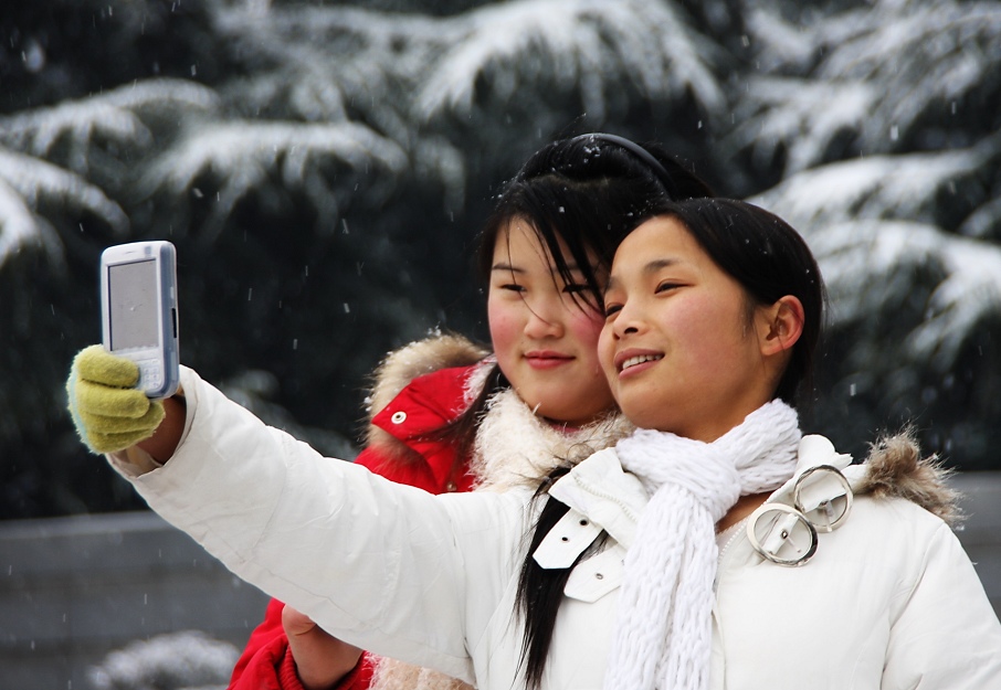
[[[190,370],[182,382],[176,454],[127,477],[149,506],[328,631],[473,681],[466,650],[514,577],[526,493],[397,485],[323,458]]]

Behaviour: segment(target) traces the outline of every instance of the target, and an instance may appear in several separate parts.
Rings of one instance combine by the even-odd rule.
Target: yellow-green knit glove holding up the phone
[[[102,346],[81,350],[73,360],[66,393],[76,433],[94,453],[134,446],[164,421],[164,403],[136,388],[139,368]]]

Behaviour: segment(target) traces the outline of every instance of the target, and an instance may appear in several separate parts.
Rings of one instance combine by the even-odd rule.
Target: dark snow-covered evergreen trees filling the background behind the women
[[[0,96],[0,518],[140,507],[64,412],[105,246],[175,242],[182,361],[351,457],[387,350],[485,335],[491,195],[596,129],[807,236],[807,428],[1001,468],[1001,2],[35,0]]]

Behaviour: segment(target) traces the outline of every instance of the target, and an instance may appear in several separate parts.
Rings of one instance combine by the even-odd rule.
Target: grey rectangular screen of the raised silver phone
[[[156,259],[108,267],[112,350],[157,346]]]

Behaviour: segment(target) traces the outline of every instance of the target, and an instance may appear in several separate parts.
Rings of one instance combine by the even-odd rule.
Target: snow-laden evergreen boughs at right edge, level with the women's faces
[[[828,282],[835,327],[908,304],[930,279],[920,322],[904,347],[913,361],[947,371],[976,328],[1001,316],[1001,246],[936,226],[936,204],[997,157],[997,144],[987,140],[959,151],[833,163],[752,201],[807,237]],[[988,200],[973,216],[997,205]]]

